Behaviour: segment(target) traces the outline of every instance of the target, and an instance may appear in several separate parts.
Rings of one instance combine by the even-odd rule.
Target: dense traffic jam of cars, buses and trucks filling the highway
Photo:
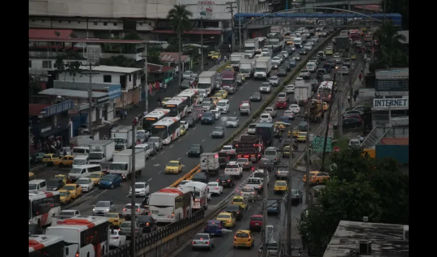
[[[104,254],[129,242],[132,208],[138,226],[135,236],[142,236],[196,210],[212,209],[231,194],[229,206],[194,237],[190,249],[220,247],[220,239],[211,235],[222,235],[226,228],[236,231],[235,226],[245,229],[232,232],[234,248],[258,247],[253,232],[262,226],[262,215],[252,203],[263,190],[281,195],[291,186],[299,205],[302,192],[294,187],[302,186],[305,177],[297,185],[287,185],[289,171],[276,166],[288,162],[293,150],[303,150],[309,122],[314,127],[323,119],[330,107],[333,74],[352,74],[356,56],[337,52],[339,37],[325,49],[313,50],[330,33],[335,30],[303,27],[249,39],[244,52],[230,54],[230,65],[222,72],[185,72],[184,78],[194,80],[195,87],[163,99],[160,107],[143,116],[136,130],[112,126],[110,139],[83,136],[72,149],[32,156],[33,162],[47,164],[48,171],[41,177],[29,172],[29,253],[36,249],[31,250],[31,240],[43,244],[43,249],[65,240],[68,251],[77,256]],[[208,57],[219,55],[213,52]],[[284,72],[289,74],[306,56],[311,57],[306,69],[285,86],[257,122],[214,152],[281,84]],[[299,114],[308,99],[312,119],[303,120]],[[296,138],[295,144],[284,143],[286,137]],[[169,187],[197,166],[199,171],[191,179]],[[271,180],[268,189],[262,188],[264,172]],[[135,206],[130,203],[132,176],[137,181]],[[323,182],[310,179],[310,183]],[[269,203],[272,213],[280,212],[279,201]],[[87,237],[93,233],[99,236]]]

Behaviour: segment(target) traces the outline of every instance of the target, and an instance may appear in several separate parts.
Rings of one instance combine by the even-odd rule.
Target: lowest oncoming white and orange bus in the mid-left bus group
[[[152,136],[162,139],[163,144],[173,142],[180,135],[180,118],[166,117],[152,125]]]

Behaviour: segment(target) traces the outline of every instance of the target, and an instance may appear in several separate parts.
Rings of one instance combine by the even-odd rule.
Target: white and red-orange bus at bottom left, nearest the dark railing
[[[110,222],[105,217],[60,218],[46,234],[62,236],[68,256],[101,257],[109,251]]]

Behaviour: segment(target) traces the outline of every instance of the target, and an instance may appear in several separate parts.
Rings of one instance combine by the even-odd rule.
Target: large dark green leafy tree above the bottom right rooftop
[[[322,256],[342,220],[409,223],[409,178],[393,159],[375,160],[360,150],[333,154],[331,181],[302,215],[299,230],[311,255]]]

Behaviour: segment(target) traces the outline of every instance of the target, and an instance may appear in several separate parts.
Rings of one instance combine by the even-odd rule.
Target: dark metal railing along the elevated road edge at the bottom
[[[135,252],[138,252],[141,249],[144,249],[145,247],[148,247],[152,245],[153,243],[158,242],[159,240],[162,240],[163,238],[176,233],[177,231],[196,223],[197,221],[201,220],[205,215],[205,211],[198,210],[195,213],[191,214],[189,217],[181,219],[180,221],[177,221],[175,223],[169,224],[163,228],[160,228],[150,234],[143,235],[141,237],[136,238],[135,240]],[[125,244],[122,247],[119,247],[111,252],[106,253],[103,255],[103,257],[127,257],[130,256],[130,247],[131,243]]]

